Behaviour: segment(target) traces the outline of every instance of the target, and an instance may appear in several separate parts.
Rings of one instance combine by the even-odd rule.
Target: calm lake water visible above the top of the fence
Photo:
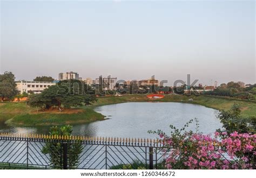
[[[82,136],[156,138],[149,130],[170,131],[172,124],[181,128],[193,118],[198,118],[203,133],[213,133],[221,127],[216,117],[218,111],[205,106],[186,103],[133,102],[99,106],[95,111],[106,116],[106,120],[90,124],[73,125],[73,134]],[[48,133],[50,126],[10,127],[0,123],[0,132]],[[194,130],[193,123],[189,129]]]

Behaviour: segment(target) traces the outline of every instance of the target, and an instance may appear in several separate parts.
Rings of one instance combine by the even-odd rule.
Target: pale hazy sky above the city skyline
[[[255,2],[1,1],[0,69],[255,83]]]

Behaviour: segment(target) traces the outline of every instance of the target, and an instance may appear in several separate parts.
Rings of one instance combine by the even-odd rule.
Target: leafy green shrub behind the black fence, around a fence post
[[[66,126],[53,126],[50,129],[50,135],[51,136],[66,136],[70,137],[71,133],[73,131],[73,128],[71,125]],[[83,146],[80,143],[80,141],[77,141],[76,143],[69,143],[69,141],[66,141],[66,143],[54,143],[49,142],[46,143],[45,146],[42,149],[43,154],[49,154],[50,155],[50,161],[52,166],[56,168],[62,167],[62,161],[63,161],[63,144],[67,145],[68,148],[68,167],[69,168],[75,168],[79,161],[79,155],[83,151]]]

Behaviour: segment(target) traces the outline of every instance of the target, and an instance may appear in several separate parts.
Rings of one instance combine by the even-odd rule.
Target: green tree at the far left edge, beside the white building
[[[15,75],[11,72],[5,72],[4,74],[0,74],[0,97],[1,101],[4,98],[11,98],[18,94],[18,90],[16,88],[15,83]]]

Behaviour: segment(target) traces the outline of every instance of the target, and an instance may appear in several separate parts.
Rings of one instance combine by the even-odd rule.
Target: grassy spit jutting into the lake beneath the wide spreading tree
[[[25,103],[2,103],[0,122],[16,126],[84,124],[103,120],[104,116],[92,108],[69,109],[63,112],[37,111]]]

